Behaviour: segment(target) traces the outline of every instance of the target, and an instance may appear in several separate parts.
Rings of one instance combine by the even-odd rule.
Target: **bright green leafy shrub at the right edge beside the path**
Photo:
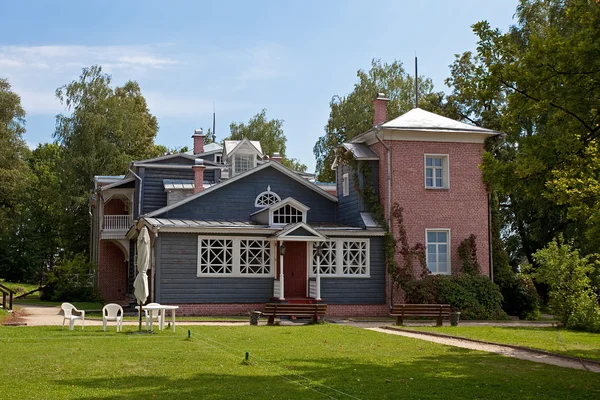
[[[567,328],[600,332],[600,306],[591,276],[592,256],[581,257],[562,237],[534,255],[532,276],[549,287],[549,304],[557,322]]]

